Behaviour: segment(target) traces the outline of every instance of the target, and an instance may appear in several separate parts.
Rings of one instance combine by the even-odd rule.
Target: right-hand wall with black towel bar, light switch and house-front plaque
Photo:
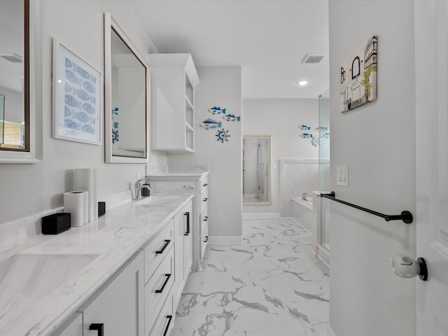
[[[330,1],[331,180],[336,197],[384,214],[415,214],[412,1]],[[377,101],[339,113],[340,66],[378,36]],[[418,130],[417,130],[418,132]],[[336,167],[349,166],[349,187]],[[416,279],[393,274],[393,255],[416,257],[415,227],[333,202],[330,325],[339,336],[416,334]]]

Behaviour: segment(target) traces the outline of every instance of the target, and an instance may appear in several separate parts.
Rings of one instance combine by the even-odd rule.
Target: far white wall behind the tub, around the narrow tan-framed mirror
[[[318,127],[318,99],[244,99],[243,134],[270,134],[272,205],[243,207],[244,213],[280,213],[280,159],[317,159],[318,148],[300,137],[302,124]],[[309,190],[311,191],[311,190]]]

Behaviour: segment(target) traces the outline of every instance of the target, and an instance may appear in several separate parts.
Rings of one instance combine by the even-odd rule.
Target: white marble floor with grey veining
[[[330,272],[289,218],[246,219],[242,245],[209,245],[171,336],[328,335]]]

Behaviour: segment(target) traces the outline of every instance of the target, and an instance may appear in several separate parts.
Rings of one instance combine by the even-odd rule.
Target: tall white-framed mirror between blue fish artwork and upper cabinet
[[[148,63],[130,38],[104,16],[106,162],[148,163]]]

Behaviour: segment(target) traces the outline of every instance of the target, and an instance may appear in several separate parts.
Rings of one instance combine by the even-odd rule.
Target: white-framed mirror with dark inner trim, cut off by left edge
[[[42,160],[42,1],[0,1],[0,162]]]

